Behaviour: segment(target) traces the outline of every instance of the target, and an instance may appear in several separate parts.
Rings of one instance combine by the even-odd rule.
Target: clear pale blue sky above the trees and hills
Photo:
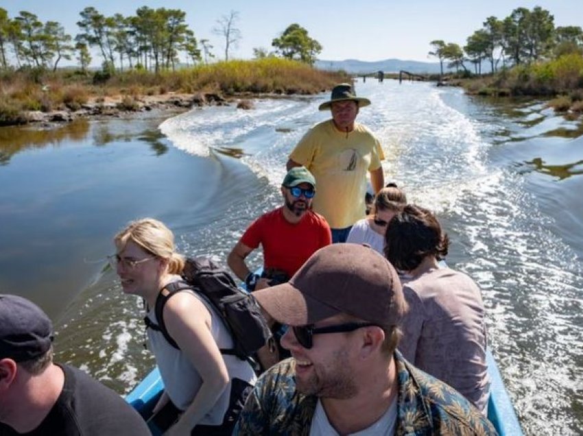
[[[100,13],[133,15],[137,8],[172,8],[187,12],[186,21],[198,40],[210,40],[211,53],[224,58],[224,40],[213,34],[217,19],[239,12],[242,39],[230,58],[249,59],[255,47],[272,49],[271,42],[285,28],[298,23],[323,49],[321,60],[390,58],[434,62],[427,56],[431,40],[466,44],[488,16],[503,19],[520,7],[549,10],[555,26],[583,27],[583,0],[0,0],[0,8],[14,18],[25,10],[40,21],[58,21],[73,36],[79,12],[93,6]]]

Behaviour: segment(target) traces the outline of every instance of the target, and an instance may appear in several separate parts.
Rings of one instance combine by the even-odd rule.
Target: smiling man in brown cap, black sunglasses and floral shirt
[[[258,380],[234,435],[496,435],[460,393],[396,350],[407,310],[395,269],[366,245],[318,250],[254,294],[292,326],[292,352]]]

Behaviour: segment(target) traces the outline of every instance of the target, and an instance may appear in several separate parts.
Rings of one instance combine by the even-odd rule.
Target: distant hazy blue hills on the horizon
[[[409,73],[439,73],[439,62],[419,62],[417,60],[385,59],[374,62],[364,60],[316,60],[316,67],[323,70],[344,70],[347,73],[364,74],[384,71],[398,73],[401,70]],[[444,65],[444,71],[446,66]]]

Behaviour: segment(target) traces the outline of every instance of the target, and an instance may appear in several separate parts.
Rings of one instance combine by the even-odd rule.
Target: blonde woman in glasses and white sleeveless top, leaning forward
[[[112,264],[123,292],[143,298],[147,317],[159,326],[156,298],[167,284],[182,280],[185,266],[175,252],[174,235],[156,219],[140,219],[115,236],[115,247]],[[256,380],[252,367],[221,354],[219,348],[233,348],[233,339],[215,309],[194,291],[174,293],[163,319],[178,349],[162,332],[147,328],[148,348],[165,385],[154,424],[169,426],[166,435],[230,435]]]

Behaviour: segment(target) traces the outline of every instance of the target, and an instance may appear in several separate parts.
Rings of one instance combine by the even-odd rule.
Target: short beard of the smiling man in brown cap
[[[307,396],[345,400],[358,393],[346,352],[336,352],[330,365],[313,363],[308,378],[296,376],[296,389]]]

